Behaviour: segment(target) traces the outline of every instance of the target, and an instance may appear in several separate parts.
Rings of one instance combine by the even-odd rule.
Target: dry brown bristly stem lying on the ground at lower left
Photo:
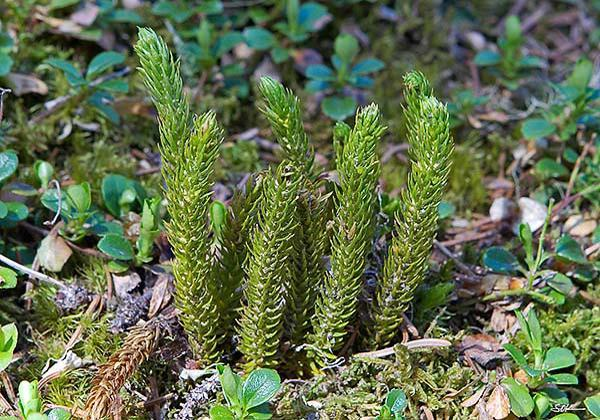
[[[150,357],[160,335],[156,322],[137,325],[129,331],[123,347],[100,366],[92,381],[92,390],[85,405],[86,418],[99,420],[115,414],[119,391]]]

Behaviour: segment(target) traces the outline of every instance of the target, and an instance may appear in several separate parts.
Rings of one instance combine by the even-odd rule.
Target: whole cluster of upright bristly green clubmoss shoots
[[[159,116],[175,304],[196,359],[217,362],[235,341],[247,371],[276,366],[289,349],[300,369],[331,365],[359,332],[379,211],[378,107],[360,109],[353,127],[335,126],[333,182],[314,163],[299,100],[263,78],[260,110],[282,161],[225,206],[211,199],[224,137],[215,114],[192,115],[179,66],[152,30],[140,30],[135,48]],[[372,347],[397,338],[426,274],[453,148],[446,107],[427,80],[412,72],[405,83],[412,166],[377,291],[360,317]]]

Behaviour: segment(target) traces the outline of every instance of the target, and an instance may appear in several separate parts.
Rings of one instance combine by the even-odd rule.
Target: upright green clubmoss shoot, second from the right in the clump
[[[381,172],[377,144],[384,130],[376,105],[358,111],[354,128],[341,122],[335,128],[340,185],[335,190],[331,271],[324,278],[309,337],[310,354],[321,366],[335,359],[358,307],[375,226]]]

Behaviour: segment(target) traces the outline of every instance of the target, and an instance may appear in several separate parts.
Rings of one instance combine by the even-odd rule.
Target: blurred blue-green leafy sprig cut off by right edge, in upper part
[[[556,134],[562,141],[571,139],[578,126],[591,129],[600,127],[598,101],[600,89],[589,86],[594,64],[587,58],[580,59],[570,76],[558,84],[551,84],[553,99],[539,116],[523,122],[521,132],[526,139],[537,140]]]

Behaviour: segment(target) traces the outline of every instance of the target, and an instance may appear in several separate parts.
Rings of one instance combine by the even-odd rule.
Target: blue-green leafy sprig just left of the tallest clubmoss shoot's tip
[[[104,117],[117,124],[120,120],[119,114],[112,107],[114,94],[127,93],[129,86],[122,74],[105,73],[113,68],[123,64],[125,56],[114,51],[106,51],[96,55],[90,61],[85,76],[75,68],[75,66],[63,59],[51,58],[47,63],[62,71],[69,86],[74,91],[71,102],[79,105],[85,102],[96,109]]]

